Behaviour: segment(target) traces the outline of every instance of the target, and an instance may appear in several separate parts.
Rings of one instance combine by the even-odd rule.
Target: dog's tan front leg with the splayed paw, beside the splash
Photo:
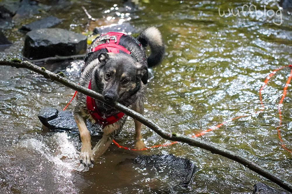
[[[80,163],[93,167],[93,154],[91,150],[91,137],[86,127],[86,120],[79,113],[74,113],[74,118],[79,129],[82,142],[80,152]]]

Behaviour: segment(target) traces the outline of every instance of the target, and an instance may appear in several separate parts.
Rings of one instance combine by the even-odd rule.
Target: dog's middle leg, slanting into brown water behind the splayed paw
[[[92,149],[94,158],[99,158],[107,150],[109,145],[111,145],[112,141],[114,140],[114,136],[118,133],[119,129],[115,128],[115,125],[110,124],[106,126],[102,131],[102,138]]]

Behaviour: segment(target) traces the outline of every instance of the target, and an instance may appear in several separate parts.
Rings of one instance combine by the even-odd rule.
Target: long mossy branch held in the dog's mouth
[[[26,68],[29,70],[32,70],[36,73],[39,73],[43,75],[46,79],[51,79],[52,81],[58,81],[59,83],[62,83],[64,86],[67,86],[68,88],[71,88],[75,91],[81,92],[87,96],[90,96],[96,100],[99,100],[105,104],[108,104],[104,102],[102,99],[102,95],[100,95],[97,92],[94,92],[93,90],[89,90],[88,88],[84,88],[77,83],[74,83],[72,81],[69,81],[66,79],[63,75],[64,74],[54,74],[48,70],[45,70],[44,67],[39,67],[37,65],[34,65],[32,63],[29,63],[27,61],[21,62],[18,59],[8,59],[8,60],[0,60],[0,65],[6,65],[6,66],[11,66],[11,67],[16,67],[16,68]],[[292,184],[285,181],[278,175],[274,175],[272,172],[269,170],[261,167],[260,165],[253,163],[253,161],[245,158],[244,156],[241,156],[235,152],[232,152],[230,150],[227,150],[225,148],[213,145],[211,143],[205,142],[203,140],[200,140],[198,138],[191,138],[185,135],[179,135],[179,134],[171,134],[163,129],[161,129],[157,124],[152,122],[150,119],[145,118],[143,115],[131,110],[130,108],[119,104],[119,103],[112,103],[108,104],[109,106],[125,113],[126,115],[132,117],[135,120],[140,121],[142,124],[145,124],[147,127],[152,129],[154,132],[156,132],[159,136],[161,136],[164,139],[171,140],[171,141],[179,141],[183,143],[187,143],[188,145],[191,146],[196,146],[200,147],[202,149],[206,149],[210,151],[213,154],[218,154],[221,156],[224,156],[226,158],[229,158],[231,160],[234,160],[238,163],[241,163],[245,167],[249,168],[250,170],[253,170],[257,174],[269,179],[270,181],[274,182],[281,188],[284,188],[285,190],[289,191],[292,193]]]

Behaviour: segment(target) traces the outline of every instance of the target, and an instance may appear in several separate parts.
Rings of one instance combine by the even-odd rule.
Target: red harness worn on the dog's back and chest
[[[119,45],[119,41],[121,36],[124,36],[125,34],[123,33],[118,33],[118,32],[109,32],[107,34],[103,34],[101,36],[108,35],[107,39],[102,39],[102,40],[107,40],[107,43],[98,45],[97,47],[91,49],[91,52],[98,51],[100,49],[107,49],[109,53],[119,53],[120,51],[125,52],[126,54],[131,54],[130,51],[128,51],[125,47],[122,47]],[[89,81],[88,89],[91,90],[91,80]],[[86,105],[87,109],[92,116],[92,118],[100,124],[102,128],[109,124],[113,124],[120,120],[125,114],[122,112],[117,113],[116,115],[112,115],[109,117],[105,117],[104,115],[101,115],[100,112],[96,108],[95,100],[89,96],[86,96]]]

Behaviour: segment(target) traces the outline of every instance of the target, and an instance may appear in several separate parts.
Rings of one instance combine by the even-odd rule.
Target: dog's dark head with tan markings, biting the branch
[[[97,85],[107,102],[125,104],[147,83],[147,67],[143,67],[128,54],[101,53],[98,56],[99,69],[95,75]]]

